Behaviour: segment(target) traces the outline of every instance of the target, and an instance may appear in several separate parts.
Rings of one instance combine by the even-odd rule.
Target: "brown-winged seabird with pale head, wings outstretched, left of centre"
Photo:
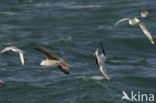
[[[34,49],[42,52],[47,57],[47,59],[43,60],[40,65],[43,65],[43,66],[56,66],[61,71],[63,71],[65,74],[69,74],[69,64],[64,59],[60,59],[54,53],[46,51],[46,50],[44,50],[42,48],[34,48]]]

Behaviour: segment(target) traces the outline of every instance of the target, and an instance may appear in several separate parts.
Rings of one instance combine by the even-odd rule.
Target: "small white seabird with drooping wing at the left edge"
[[[7,52],[7,51],[9,51],[9,50],[12,50],[12,51],[14,51],[14,52],[19,53],[20,59],[21,59],[21,63],[22,63],[22,65],[24,65],[23,51],[20,50],[20,49],[18,49],[17,47],[15,47],[15,46],[6,47],[6,48],[4,48],[3,50],[1,50],[0,53]]]

